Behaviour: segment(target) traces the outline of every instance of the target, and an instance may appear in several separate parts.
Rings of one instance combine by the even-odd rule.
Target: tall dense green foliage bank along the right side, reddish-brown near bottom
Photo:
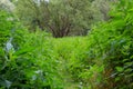
[[[102,89],[131,89],[133,87],[132,3],[132,1],[117,1],[119,6],[111,12],[112,20],[94,27],[89,34],[90,55],[94,56],[95,65],[99,66],[98,61],[104,65],[101,72]]]

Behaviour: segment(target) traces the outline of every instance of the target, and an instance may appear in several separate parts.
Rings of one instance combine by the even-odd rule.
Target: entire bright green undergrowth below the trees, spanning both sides
[[[132,89],[133,1],[117,4],[86,37],[59,39],[0,11],[0,89]]]

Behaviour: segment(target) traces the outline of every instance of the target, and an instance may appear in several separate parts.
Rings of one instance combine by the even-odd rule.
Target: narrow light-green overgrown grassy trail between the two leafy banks
[[[73,56],[79,49],[85,49],[85,37],[59,38],[53,40],[57,59],[59,60],[59,72],[63,79],[64,89],[82,89],[80,82],[72,78],[71,66],[75,62]],[[81,47],[81,48],[79,48]],[[71,61],[71,62],[70,62]],[[72,62],[73,61],[73,62]]]

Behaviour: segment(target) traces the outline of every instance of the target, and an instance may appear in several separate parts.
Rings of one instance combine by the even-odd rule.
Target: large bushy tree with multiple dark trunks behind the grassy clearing
[[[84,34],[93,19],[89,0],[18,0],[16,6],[25,26],[50,31],[55,38]]]

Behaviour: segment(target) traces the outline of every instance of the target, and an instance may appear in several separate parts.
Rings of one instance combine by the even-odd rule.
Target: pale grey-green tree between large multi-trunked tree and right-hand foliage
[[[111,19],[110,10],[116,0],[93,0],[91,8],[93,12],[93,22],[108,21]]]

